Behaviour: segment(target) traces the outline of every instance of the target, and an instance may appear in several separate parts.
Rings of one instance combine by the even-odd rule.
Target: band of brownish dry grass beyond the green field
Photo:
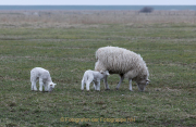
[[[0,27],[73,28],[106,27],[107,24],[124,24],[137,27],[143,24],[196,23],[196,11],[1,11]]]

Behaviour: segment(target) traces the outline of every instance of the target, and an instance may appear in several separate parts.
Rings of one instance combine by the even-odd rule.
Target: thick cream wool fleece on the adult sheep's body
[[[132,71],[136,75],[148,76],[148,68],[140,54],[119,47],[103,47],[96,51],[96,71],[109,71],[111,74],[126,74]]]

